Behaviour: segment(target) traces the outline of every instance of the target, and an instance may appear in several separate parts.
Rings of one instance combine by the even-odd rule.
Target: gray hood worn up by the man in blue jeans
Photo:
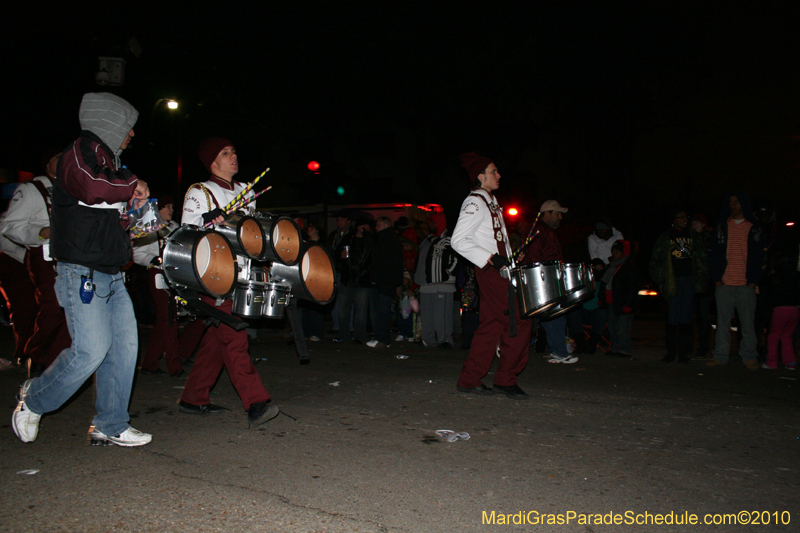
[[[86,93],[81,100],[78,118],[82,129],[100,137],[116,153],[136,124],[139,112],[114,94]]]

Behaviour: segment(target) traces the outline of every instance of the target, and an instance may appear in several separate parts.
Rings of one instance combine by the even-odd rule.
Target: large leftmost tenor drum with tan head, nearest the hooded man
[[[161,256],[167,281],[214,298],[227,296],[236,281],[236,256],[215,230],[181,226],[167,236]]]

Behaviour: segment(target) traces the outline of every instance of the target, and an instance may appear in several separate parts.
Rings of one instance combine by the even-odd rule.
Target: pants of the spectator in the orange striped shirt
[[[731,351],[731,319],[734,310],[739,314],[742,342],[739,343],[739,356],[742,361],[757,359],[756,351],[756,290],[747,285],[722,285],[716,288],[717,296],[717,338],[711,355],[720,363],[727,363]]]

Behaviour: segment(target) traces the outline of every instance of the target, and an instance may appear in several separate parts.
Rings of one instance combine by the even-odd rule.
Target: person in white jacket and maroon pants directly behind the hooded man
[[[50,205],[60,156],[60,151],[46,152],[45,175],[17,187],[2,225],[5,238],[27,248],[25,269],[35,287],[36,318],[24,347],[28,377],[40,376],[72,344],[64,310],[56,296],[55,264],[49,253]]]

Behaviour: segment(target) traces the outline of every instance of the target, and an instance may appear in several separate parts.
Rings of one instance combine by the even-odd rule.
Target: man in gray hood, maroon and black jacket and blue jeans
[[[120,272],[131,257],[125,212],[142,207],[150,195],[147,184],[119,161],[138,116],[118,96],[85,94],[83,131],[58,162],[50,254],[58,261],[55,289],[72,346],[41,377],[22,384],[11,420],[22,442],[34,441],[41,416],[61,407],[95,372],[97,416],[90,443],[142,446],[152,439],[129,423],[139,341]]]

